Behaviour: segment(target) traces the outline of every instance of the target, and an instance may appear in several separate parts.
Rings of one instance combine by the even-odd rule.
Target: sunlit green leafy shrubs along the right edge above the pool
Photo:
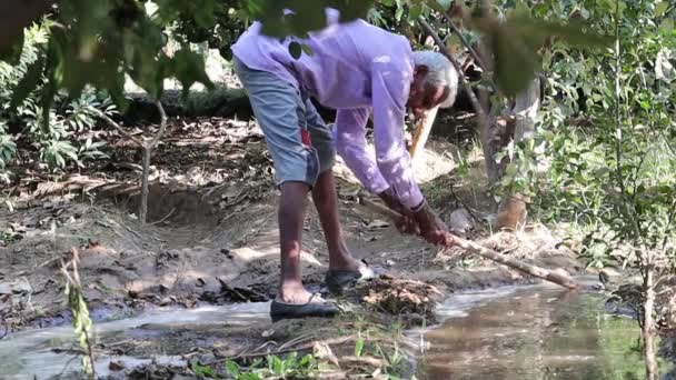
[[[527,159],[530,169],[519,168],[535,181],[540,217],[588,227],[585,253],[594,264],[642,264],[642,254],[656,251],[675,258],[676,90],[665,58],[676,49],[674,28],[665,27],[675,12],[659,4],[546,1],[535,8],[543,18],[573,13],[599,29],[618,27],[619,49],[583,52],[555,42],[545,54],[549,91],[540,130],[521,149],[549,170]]]

